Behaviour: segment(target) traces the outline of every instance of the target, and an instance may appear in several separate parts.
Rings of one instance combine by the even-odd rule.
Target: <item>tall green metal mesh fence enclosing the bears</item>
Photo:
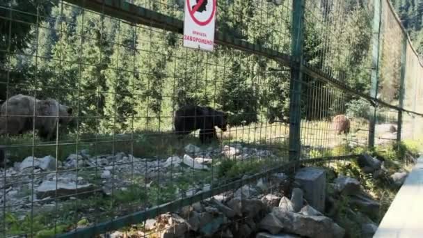
[[[92,237],[422,135],[423,65],[389,1],[218,1],[213,52],[182,47],[183,9],[0,4],[2,237]],[[186,105],[228,130],[178,138]]]

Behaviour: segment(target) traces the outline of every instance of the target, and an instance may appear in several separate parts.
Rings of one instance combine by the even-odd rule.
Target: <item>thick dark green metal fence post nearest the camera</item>
[[[301,153],[301,84],[303,73],[305,0],[292,1],[292,58],[289,84],[289,160],[299,161]]]

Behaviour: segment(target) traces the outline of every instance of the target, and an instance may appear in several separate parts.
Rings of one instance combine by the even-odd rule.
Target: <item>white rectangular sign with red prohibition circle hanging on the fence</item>
[[[186,0],[184,47],[213,50],[216,0]]]

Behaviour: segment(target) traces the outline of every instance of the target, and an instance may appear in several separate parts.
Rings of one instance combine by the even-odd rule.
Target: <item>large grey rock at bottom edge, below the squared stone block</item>
[[[285,232],[303,237],[342,238],[345,230],[326,216],[304,216],[274,207],[272,213],[282,223]]]

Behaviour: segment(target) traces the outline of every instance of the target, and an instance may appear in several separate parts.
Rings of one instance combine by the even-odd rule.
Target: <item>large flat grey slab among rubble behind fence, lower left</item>
[[[57,186],[57,187],[56,187]],[[55,198],[62,196],[72,196],[77,193],[86,193],[95,189],[94,184],[77,184],[77,182],[69,181],[49,181],[45,180],[40,186],[35,189],[38,199],[42,198]],[[88,196],[89,193],[84,194]]]

